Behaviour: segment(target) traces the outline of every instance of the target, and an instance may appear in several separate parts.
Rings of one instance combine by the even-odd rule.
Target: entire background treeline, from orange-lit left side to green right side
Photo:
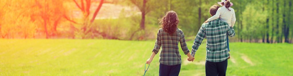
[[[0,38],[155,39],[167,11],[176,11],[179,28],[195,36],[220,0],[4,0]],[[232,0],[236,13],[232,41],[292,43],[292,0]],[[96,19],[103,4],[125,6],[118,18]],[[129,11],[129,8],[133,11]],[[78,11],[82,15],[76,18]],[[139,13],[137,13],[139,12]]]

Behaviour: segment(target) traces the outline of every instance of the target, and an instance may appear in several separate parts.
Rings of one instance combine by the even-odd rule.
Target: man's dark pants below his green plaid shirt
[[[206,76],[226,76],[228,60],[221,62],[205,62],[205,75]]]

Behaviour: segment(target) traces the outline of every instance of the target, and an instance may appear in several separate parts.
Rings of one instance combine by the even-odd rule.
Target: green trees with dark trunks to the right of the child
[[[292,43],[292,0],[237,0],[233,8],[238,41]]]

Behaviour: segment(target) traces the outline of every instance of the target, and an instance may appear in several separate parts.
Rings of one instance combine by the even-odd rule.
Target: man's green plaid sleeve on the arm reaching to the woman
[[[202,40],[205,38],[205,29],[203,27],[200,28],[200,30],[198,31],[193,45],[192,45],[192,50],[191,50],[191,56],[194,57],[195,52],[197,51],[198,47],[200,46],[200,44],[202,43]]]

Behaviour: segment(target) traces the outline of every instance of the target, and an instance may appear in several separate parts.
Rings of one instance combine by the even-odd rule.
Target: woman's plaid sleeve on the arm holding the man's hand
[[[185,41],[185,37],[184,37],[184,33],[182,32],[181,34],[181,37],[180,37],[180,45],[181,45],[181,48],[184,52],[184,54],[186,55],[187,53],[189,53],[189,50],[188,50],[188,47],[187,47],[187,44],[186,44],[186,41]]]

